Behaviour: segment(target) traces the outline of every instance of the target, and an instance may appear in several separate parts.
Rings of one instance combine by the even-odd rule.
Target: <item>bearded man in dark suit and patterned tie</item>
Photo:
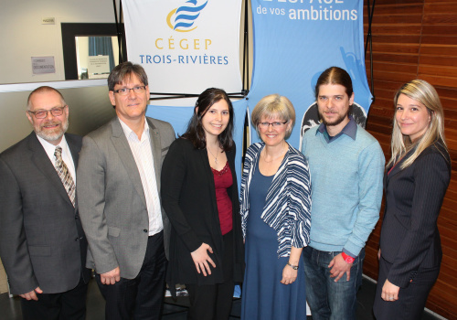
[[[24,319],[84,319],[90,271],[76,203],[79,136],[50,87],[32,91],[34,132],[0,154],[0,257]]]

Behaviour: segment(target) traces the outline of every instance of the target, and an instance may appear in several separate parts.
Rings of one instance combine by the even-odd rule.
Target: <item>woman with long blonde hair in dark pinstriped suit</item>
[[[394,105],[374,312],[377,319],[420,319],[440,273],[437,219],[451,160],[440,98],[428,82],[403,85]]]

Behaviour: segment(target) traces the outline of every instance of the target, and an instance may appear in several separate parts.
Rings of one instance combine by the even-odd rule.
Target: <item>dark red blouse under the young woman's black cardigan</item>
[[[222,235],[224,235],[233,228],[232,203],[227,193],[227,188],[233,185],[233,178],[228,162],[220,171],[213,168],[211,170],[214,176],[214,187],[216,187],[220,230],[222,231]]]

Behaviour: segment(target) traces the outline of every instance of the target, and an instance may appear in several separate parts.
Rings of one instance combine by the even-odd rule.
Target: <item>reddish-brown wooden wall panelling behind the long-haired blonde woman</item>
[[[370,1],[372,5],[373,1]],[[367,0],[365,0],[367,36]],[[449,319],[457,319],[457,2],[455,0],[377,0],[372,24],[375,101],[367,119],[372,133],[390,156],[393,97],[412,79],[429,81],[440,94],[445,133],[452,158],[452,180],[441,208],[443,259],[440,277],[427,307]],[[370,79],[369,51],[367,77]],[[377,279],[377,249],[384,212],[367,241],[364,272]]]

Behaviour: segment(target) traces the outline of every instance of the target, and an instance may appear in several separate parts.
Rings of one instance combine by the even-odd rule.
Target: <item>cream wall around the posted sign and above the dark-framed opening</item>
[[[0,8],[0,84],[65,80],[60,23],[115,22],[112,0],[0,0]],[[56,73],[33,75],[31,57],[44,56],[54,57]]]

